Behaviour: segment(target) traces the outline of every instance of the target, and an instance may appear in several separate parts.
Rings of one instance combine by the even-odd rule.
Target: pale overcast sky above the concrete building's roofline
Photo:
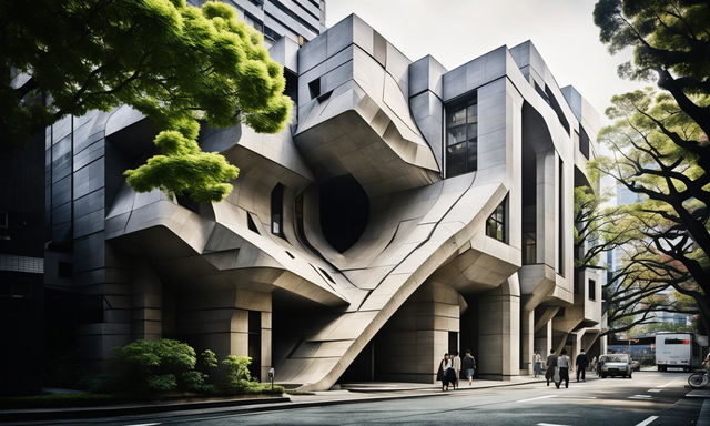
[[[611,95],[638,88],[616,72],[594,24],[596,0],[326,0],[331,27],[363,18],[410,60],[432,54],[448,70],[503,44],[532,40],[561,87],[572,84],[601,115]],[[646,83],[648,84],[648,83]],[[641,84],[641,85],[646,85]]]

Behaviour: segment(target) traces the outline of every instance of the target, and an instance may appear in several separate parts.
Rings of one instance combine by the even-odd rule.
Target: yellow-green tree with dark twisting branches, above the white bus
[[[708,324],[710,175],[699,156],[676,144],[658,123],[689,139],[699,139],[702,130],[670,95],[652,89],[613,97],[607,115],[616,122],[602,129],[599,139],[611,155],[590,166],[642,196],[640,203],[623,207],[631,226],[611,230],[625,232],[632,242],[627,266],[615,284],[618,294],[629,294],[625,292],[629,281],[642,283],[637,298],[642,307],[653,293],[672,287],[696,302]],[[673,308],[662,301],[653,303]]]

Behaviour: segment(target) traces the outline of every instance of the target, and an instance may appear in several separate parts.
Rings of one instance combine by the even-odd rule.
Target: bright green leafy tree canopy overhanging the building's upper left
[[[274,133],[292,108],[262,36],[221,2],[0,0],[0,142],[128,104],[163,131],[128,172],[138,191],[222,200],[239,171],[200,151],[200,123]]]

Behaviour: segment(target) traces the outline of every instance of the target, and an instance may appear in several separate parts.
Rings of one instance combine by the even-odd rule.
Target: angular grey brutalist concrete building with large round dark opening
[[[457,348],[505,379],[534,349],[598,345],[600,276],[574,268],[598,128],[584,98],[530,42],[446,70],[356,16],[318,18],[271,47],[287,130],[203,130],[241,168],[223,202],[132,191],[121,173],[156,130],[129,108],[48,130],[45,283],[79,301],[82,359],[171,337],[326,389],[432,383]]]

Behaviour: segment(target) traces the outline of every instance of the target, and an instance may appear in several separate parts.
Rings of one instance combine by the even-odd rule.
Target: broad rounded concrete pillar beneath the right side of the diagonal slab
[[[458,292],[442,283],[424,284],[377,334],[375,378],[435,383],[444,353],[458,349],[459,315]]]

